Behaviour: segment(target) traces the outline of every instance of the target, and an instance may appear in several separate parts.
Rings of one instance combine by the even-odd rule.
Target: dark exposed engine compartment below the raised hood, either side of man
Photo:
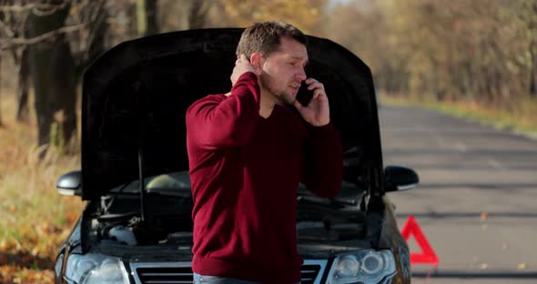
[[[120,192],[101,198],[90,214],[90,236],[96,243],[127,246],[191,246],[192,198],[147,194],[144,219],[137,193]],[[318,243],[360,239],[365,236],[365,212],[348,200],[298,198],[299,242]]]

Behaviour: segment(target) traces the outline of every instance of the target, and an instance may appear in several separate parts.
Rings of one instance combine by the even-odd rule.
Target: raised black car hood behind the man
[[[115,46],[86,70],[82,198],[98,198],[137,179],[140,161],[145,177],[187,170],[187,107],[202,96],[228,92],[242,31],[147,36]],[[380,193],[379,119],[370,68],[327,39],[309,36],[308,51],[306,73],[324,84],[331,121],[341,134],[344,178]]]

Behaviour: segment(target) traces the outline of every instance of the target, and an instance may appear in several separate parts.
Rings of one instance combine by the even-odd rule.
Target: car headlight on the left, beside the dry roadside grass
[[[120,259],[96,253],[70,255],[65,279],[76,284],[128,284],[127,270]]]

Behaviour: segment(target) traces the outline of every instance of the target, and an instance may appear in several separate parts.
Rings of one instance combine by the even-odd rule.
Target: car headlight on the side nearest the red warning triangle
[[[395,272],[395,259],[390,250],[360,250],[334,259],[328,283],[389,283]]]

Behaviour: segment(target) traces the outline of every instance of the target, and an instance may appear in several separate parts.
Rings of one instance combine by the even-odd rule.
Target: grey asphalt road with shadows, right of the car
[[[440,259],[413,283],[537,283],[536,139],[414,107],[381,106],[380,130],[384,165],[420,175],[389,194],[399,226],[413,215]]]

